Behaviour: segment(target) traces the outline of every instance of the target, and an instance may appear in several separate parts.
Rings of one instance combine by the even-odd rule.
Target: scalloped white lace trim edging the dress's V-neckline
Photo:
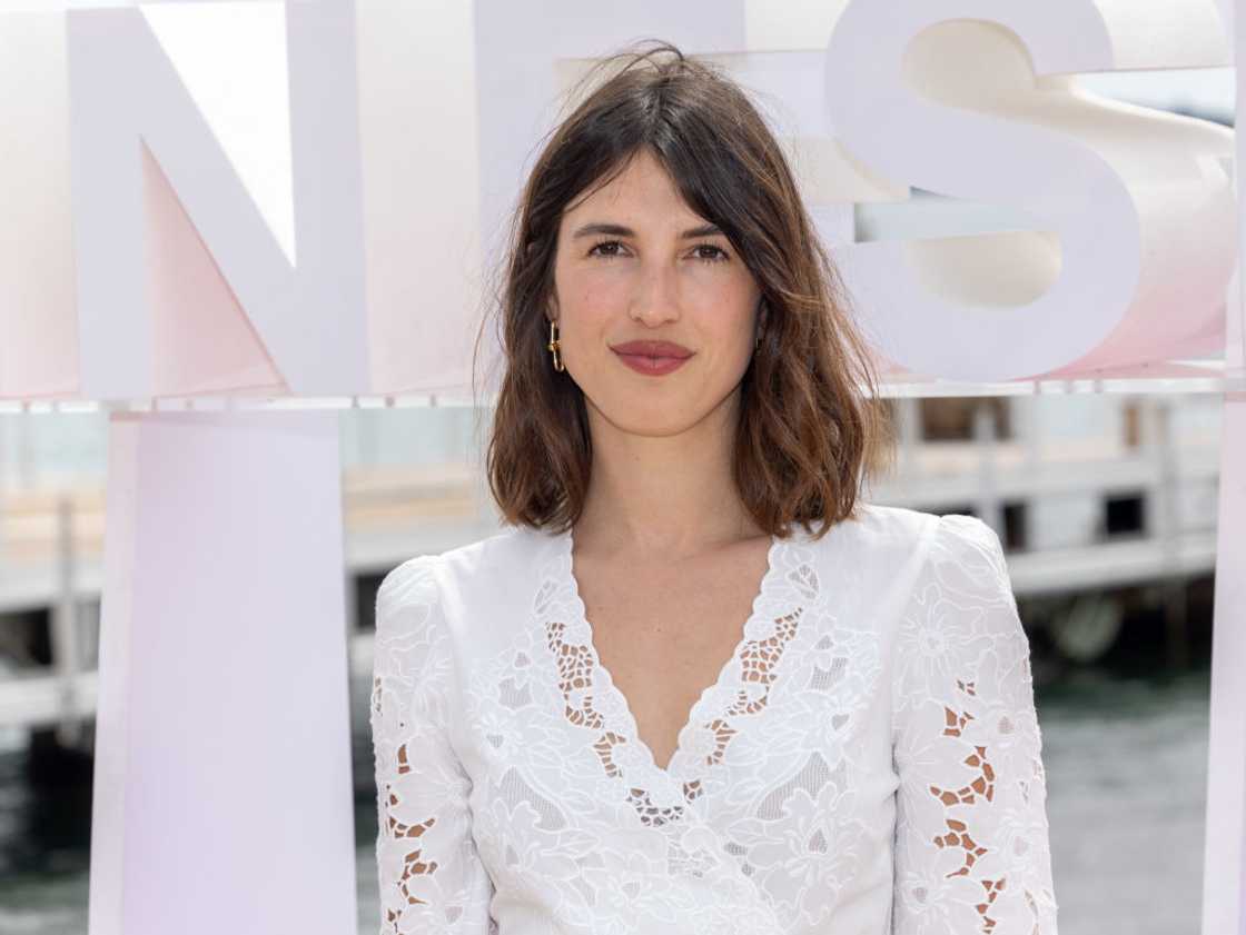
[[[568,527],[567,532],[561,535],[562,542],[562,573],[564,575],[563,584],[567,588],[567,593],[571,599],[572,609],[576,614],[577,623],[584,630],[584,650],[587,651],[589,660],[594,669],[602,675],[603,681],[607,686],[607,692],[613,695],[613,705],[607,706],[607,710],[617,711],[621,715],[622,723],[609,723],[611,730],[616,731],[625,738],[628,743],[635,746],[635,751],[640,753],[644,758],[647,766],[653,768],[658,776],[662,776],[669,781],[674,781],[677,784],[680,781],[692,781],[695,778],[697,771],[692,769],[692,763],[695,762],[694,754],[685,748],[685,742],[689,738],[689,732],[695,727],[699,721],[704,718],[704,708],[711,700],[714,695],[725,691],[729,686],[735,686],[740,684],[740,655],[744,649],[753,641],[751,631],[756,627],[758,621],[766,613],[766,598],[774,590],[775,584],[780,575],[780,552],[789,544],[787,540],[780,539],[778,535],[770,535],[770,545],[766,549],[766,568],[761,574],[761,580],[758,583],[758,589],[754,593],[753,603],[749,609],[749,615],[740,625],[739,635],[735,640],[735,645],[731,649],[731,655],[728,660],[719,667],[718,675],[713,682],[704,686],[698,693],[697,700],[693,702],[692,707],[688,708],[688,715],[684,718],[683,726],[675,735],[675,747],[670,753],[670,759],[667,761],[665,766],[659,766],[653,756],[653,748],[649,746],[640,736],[639,725],[637,723],[634,711],[632,708],[632,702],[623,692],[622,688],[616,684],[613,674],[609,667],[602,662],[601,655],[597,652],[597,644],[593,636],[593,624],[588,619],[588,609],[584,605],[583,598],[579,594],[579,580],[576,578],[574,571],[574,533]],[[715,712],[715,715],[721,715],[723,712]],[[687,761],[687,762],[685,762]],[[700,766],[704,766],[703,763]]]

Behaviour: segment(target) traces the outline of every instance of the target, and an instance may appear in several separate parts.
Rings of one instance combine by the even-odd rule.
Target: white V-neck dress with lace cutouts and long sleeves
[[[978,519],[774,539],[665,768],[569,534],[392,570],[371,728],[383,933],[1057,935],[1029,644]]]

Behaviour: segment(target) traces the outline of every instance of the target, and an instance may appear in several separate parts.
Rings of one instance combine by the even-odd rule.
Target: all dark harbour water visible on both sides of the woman
[[[1197,935],[1210,669],[1074,670],[1039,686],[1060,935]],[[379,929],[375,801],[361,687],[354,758],[359,933]],[[0,756],[0,933],[85,935],[90,776],[32,784]],[[255,783],[257,794],[267,788]]]

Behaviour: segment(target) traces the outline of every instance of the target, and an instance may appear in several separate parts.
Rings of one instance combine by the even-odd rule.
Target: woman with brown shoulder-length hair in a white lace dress
[[[1055,935],[999,540],[857,498],[873,375],[779,146],[619,62],[517,214],[510,528],[378,594],[383,931]]]

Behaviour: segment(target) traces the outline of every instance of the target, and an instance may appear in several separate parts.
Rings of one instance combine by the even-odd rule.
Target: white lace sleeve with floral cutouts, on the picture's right
[[[1029,641],[981,519],[934,525],[896,639],[892,935],[1057,935]]]

